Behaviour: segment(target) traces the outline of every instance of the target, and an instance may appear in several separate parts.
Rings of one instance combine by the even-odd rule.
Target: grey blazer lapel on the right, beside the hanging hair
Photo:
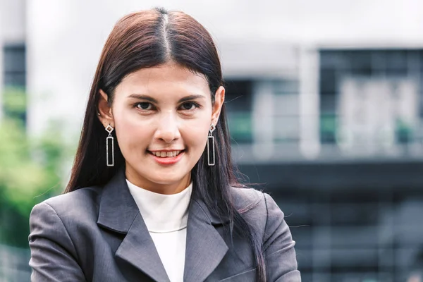
[[[193,191],[194,194],[194,191]],[[202,200],[192,198],[188,212],[187,243],[183,281],[204,281],[228,251],[228,245],[212,223],[221,223]]]

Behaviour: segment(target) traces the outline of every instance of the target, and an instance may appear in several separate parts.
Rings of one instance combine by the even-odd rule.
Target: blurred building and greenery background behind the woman
[[[154,6],[212,33],[233,157],[286,214],[303,281],[423,281],[423,2],[0,0],[0,281],[68,180],[99,54]]]

